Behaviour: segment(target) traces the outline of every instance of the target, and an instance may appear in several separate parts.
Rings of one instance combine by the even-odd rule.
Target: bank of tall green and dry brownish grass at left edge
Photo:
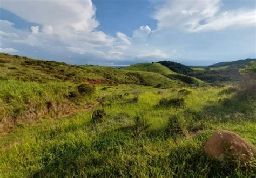
[[[75,96],[70,97],[71,92]],[[42,84],[3,80],[0,87],[0,130],[8,130],[22,121],[28,123],[44,116],[55,117],[89,101],[90,97],[79,95],[77,86],[69,82]]]

